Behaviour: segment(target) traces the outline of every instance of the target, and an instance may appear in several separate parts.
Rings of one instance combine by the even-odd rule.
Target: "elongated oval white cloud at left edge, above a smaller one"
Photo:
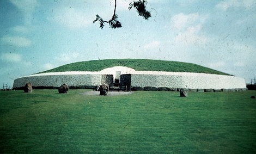
[[[1,38],[1,41],[5,42],[5,44],[14,45],[17,47],[31,46],[31,40],[20,36],[5,35],[3,38]]]

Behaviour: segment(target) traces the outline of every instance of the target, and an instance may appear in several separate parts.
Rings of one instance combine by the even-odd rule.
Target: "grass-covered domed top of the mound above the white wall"
[[[150,60],[150,59],[106,59],[81,61],[56,67],[46,72],[65,72],[65,71],[101,71],[108,67],[126,66],[136,71],[167,71],[167,72],[197,72],[211,73],[217,75],[228,75],[220,71],[209,69],[192,63],[182,63],[178,61]]]

